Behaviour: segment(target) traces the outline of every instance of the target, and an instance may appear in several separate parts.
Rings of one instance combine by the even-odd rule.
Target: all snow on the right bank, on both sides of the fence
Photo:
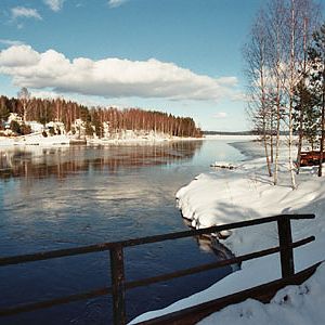
[[[292,191],[287,171],[287,148],[282,146],[278,185],[266,176],[262,150],[253,142],[234,143],[247,160],[234,170],[213,169],[195,178],[177,193],[178,204],[195,227],[206,227],[280,213],[315,213],[315,220],[291,221],[292,239],[316,239],[295,249],[296,271],[325,260],[325,177],[306,168]],[[213,162],[213,161],[211,161]],[[231,161],[230,161],[231,162]],[[232,231],[222,240],[236,256],[278,245],[275,223]],[[132,323],[209,301],[281,277],[278,253],[242,263],[242,269],[208,289],[159,311],[143,314]],[[212,314],[200,324],[325,324],[325,264],[301,286],[288,286],[262,304],[246,300]]]

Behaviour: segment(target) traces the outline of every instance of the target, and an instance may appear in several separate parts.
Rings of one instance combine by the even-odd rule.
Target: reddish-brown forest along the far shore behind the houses
[[[10,113],[17,113],[24,120],[36,120],[43,125],[49,121],[61,121],[65,125],[66,131],[74,128],[76,119],[81,119],[89,135],[94,129],[100,138],[104,134],[104,122],[108,123],[110,133],[118,133],[121,130],[144,130],[176,136],[202,136],[200,129],[191,117],[176,117],[167,113],[140,108],[89,108],[64,99],[22,100],[1,95],[0,121],[5,121]]]

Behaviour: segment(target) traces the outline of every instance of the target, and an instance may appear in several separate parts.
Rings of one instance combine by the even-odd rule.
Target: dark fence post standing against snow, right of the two
[[[291,224],[289,216],[281,216],[277,220],[280,257],[282,277],[288,277],[295,274],[294,249],[289,247],[292,244]]]

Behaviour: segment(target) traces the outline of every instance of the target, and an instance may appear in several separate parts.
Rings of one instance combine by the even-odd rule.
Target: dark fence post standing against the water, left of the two
[[[118,245],[110,249],[112,296],[114,325],[126,324],[123,248]]]

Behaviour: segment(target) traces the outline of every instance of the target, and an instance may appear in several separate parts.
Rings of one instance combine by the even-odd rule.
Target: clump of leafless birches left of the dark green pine
[[[259,96],[250,98],[260,107],[260,110],[256,112],[259,112],[261,117],[266,117],[269,132],[272,134],[270,138],[272,150],[275,128],[274,184],[278,182],[280,134],[283,123],[288,133],[288,165],[292,188],[297,187],[294,166],[294,98],[297,84],[307,72],[307,50],[318,12],[315,9],[313,0],[270,1],[266,10],[268,15],[263,14],[261,18],[260,14],[255,22],[248,46],[251,48],[251,52],[246,51],[245,54],[246,61],[258,60],[260,63],[260,65],[255,65],[255,74],[251,65],[249,65],[249,84],[253,84],[251,79],[252,77],[256,78],[256,83],[259,87],[255,89],[255,93],[257,90],[260,92]],[[256,51],[253,47],[257,48],[256,44],[258,44],[257,40],[259,40],[260,50],[262,50],[259,52],[259,57],[252,56],[253,51]],[[265,139],[266,136],[264,136]],[[300,141],[301,152],[302,134]],[[268,157],[266,142],[264,144],[265,156]],[[269,160],[268,169],[270,171]],[[269,174],[271,173],[269,172]]]

